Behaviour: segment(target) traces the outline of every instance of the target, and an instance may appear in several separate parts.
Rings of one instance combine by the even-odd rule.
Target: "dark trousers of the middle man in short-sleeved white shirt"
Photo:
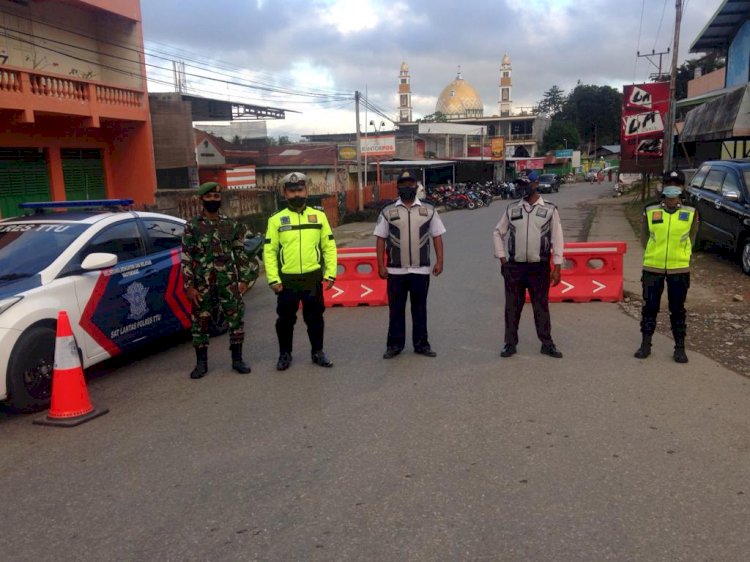
[[[427,339],[427,291],[430,276],[422,273],[388,275],[388,341],[391,349],[406,345],[406,299],[411,302],[412,343],[414,349],[430,347]]]

